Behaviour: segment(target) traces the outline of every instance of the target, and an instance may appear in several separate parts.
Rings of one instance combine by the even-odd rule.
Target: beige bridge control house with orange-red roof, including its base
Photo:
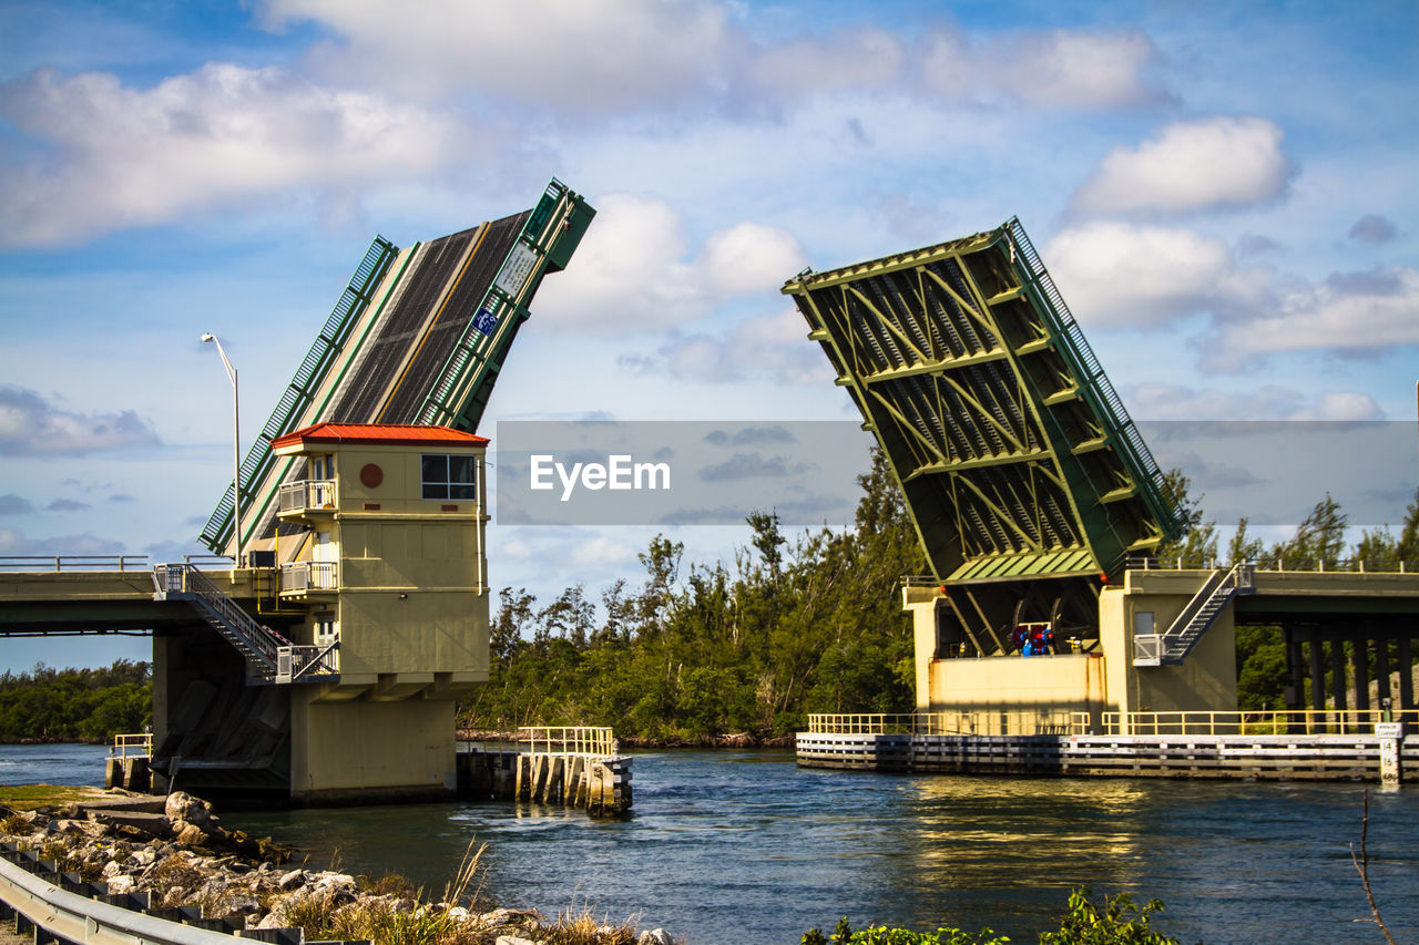
[[[487,444],[348,423],[271,443],[305,463],[278,495],[280,597],[336,671],[291,690],[294,796],[453,788],[455,700],[488,678]]]

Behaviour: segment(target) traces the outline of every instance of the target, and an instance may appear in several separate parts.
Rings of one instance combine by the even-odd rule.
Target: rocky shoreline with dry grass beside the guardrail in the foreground
[[[0,806],[0,840],[62,873],[146,894],[149,908],[200,910],[233,929],[302,928],[311,939],[417,945],[675,945],[664,929],[604,925],[590,911],[548,919],[492,908],[481,895],[482,850],[470,847],[437,898],[403,877],[356,877],[291,863],[295,850],[227,830],[209,802],[108,792],[98,800],[17,812]]]

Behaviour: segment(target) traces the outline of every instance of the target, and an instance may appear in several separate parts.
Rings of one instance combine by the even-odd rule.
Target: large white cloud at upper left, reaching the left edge
[[[281,68],[210,64],[149,89],[43,70],[0,87],[40,148],[0,177],[0,240],[51,245],[311,189],[343,199],[465,156],[448,115]],[[23,153],[23,152],[21,152]],[[23,158],[21,158],[23,160]]]

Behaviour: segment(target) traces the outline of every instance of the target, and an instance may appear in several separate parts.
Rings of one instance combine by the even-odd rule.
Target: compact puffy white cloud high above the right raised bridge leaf
[[[1105,155],[1070,203],[1084,213],[1192,213],[1276,200],[1296,173],[1281,138],[1263,118],[1175,122]]]

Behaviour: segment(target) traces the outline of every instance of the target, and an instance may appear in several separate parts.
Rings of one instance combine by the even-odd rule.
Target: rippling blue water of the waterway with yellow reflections
[[[589,902],[692,945],[792,944],[839,915],[1032,942],[1080,884],[1164,900],[1158,927],[1183,942],[1379,941],[1349,858],[1364,785],[890,776],[803,770],[786,752],[637,755],[634,778],[634,812],[613,822],[485,803],[224,823],[297,843],[312,866],[438,891],[487,841],[498,902]],[[1419,785],[1372,789],[1369,813],[1382,915],[1419,941]]]

